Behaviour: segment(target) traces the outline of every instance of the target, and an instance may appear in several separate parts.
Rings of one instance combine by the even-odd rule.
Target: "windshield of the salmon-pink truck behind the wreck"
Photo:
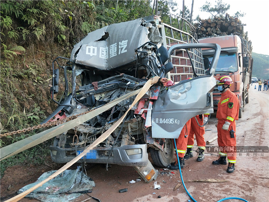
[[[204,62],[207,60],[211,65],[213,55],[204,56]],[[218,59],[218,64],[215,72],[236,72],[238,70],[235,53],[221,53]]]

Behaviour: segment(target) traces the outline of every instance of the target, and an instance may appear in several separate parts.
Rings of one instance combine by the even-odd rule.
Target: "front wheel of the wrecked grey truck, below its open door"
[[[167,167],[173,160],[174,146],[172,139],[165,139],[163,151],[150,148],[150,155],[155,165],[159,167]]]

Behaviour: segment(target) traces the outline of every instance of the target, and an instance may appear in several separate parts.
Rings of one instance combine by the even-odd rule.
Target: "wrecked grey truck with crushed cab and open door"
[[[166,35],[171,34],[172,28],[162,24],[157,16],[112,24],[84,37],[74,46],[70,59],[58,57],[53,61],[51,94],[58,108],[42,123],[104,107],[142,88],[152,77],[164,78],[153,85],[132,107],[123,123],[80,162],[134,166],[140,173],[150,173],[154,168],[147,151],[155,165],[168,166],[174,154],[172,138],[179,136],[187,120],[201,113],[213,113],[212,91],[216,85],[213,74],[219,46],[186,44],[183,39],[174,39],[176,44],[170,47],[173,38],[168,39]],[[207,75],[201,48],[215,50]],[[61,66],[59,60],[67,60],[66,66]],[[65,90],[57,101],[54,97],[59,91],[59,71],[64,74]],[[68,74],[72,77],[72,86],[68,85]],[[193,79],[184,80],[188,76]],[[169,79],[176,84],[167,82]],[[135,96],[124,99],[56,136],[50,146],[52,160],[71,161],[112,127],[134,99]],[[142,171],[144,168],[150,169]],[[142,176],[144,180],[146,176]]]

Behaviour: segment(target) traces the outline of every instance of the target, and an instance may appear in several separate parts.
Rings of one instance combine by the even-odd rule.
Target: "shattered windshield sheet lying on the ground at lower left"
[[[81,166],[78,166],[76,170],[63,171],[61,174],[26,195],[25,198],[35,198],[43,202],[65,202],[72,201],[84,193],[90,193],[91,191],[89,190],[95,186],[95,183],[85,173],[82,173],[80,168]],[[56,171],[49,171],[43,173],[35,183],[19,189],[18,194],[32,188],[55,172]]]

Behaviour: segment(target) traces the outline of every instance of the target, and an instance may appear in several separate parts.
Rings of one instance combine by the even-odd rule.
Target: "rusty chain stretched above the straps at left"
[[[68,122],[68,121],[71,121],[73,119],[76,119],[78,116],[87,114],[87,113],[89,113],[91,111],[92,110],[89,110],[89,111],[86,111],[86,112],[82,112],[80,114],[76,114],[76,115],[73,115],[73,116],[66,117],[64,119],[59,119],[59,120],[56,120],[56,121],[51,121],[51,122],[47,122],[47,123],[44,123],[44,124],[39,124],[39,125],[36,125],[36,126],[24,128],[22,130],[17,130],[17,131],[13,131],[13,132],[9,132],[9,133],[0,134],[0,137],[15,135],[15,134],[19,134],[19,133],[25,133],[25,132],[28,132],[28,131],[31,131],[31,130],[40,129],[40,128],[44,128],[44,127],[49,127],[49,126],[53,126],[53,125],[56,125],[56,124],[63,124],[64,122]]]

